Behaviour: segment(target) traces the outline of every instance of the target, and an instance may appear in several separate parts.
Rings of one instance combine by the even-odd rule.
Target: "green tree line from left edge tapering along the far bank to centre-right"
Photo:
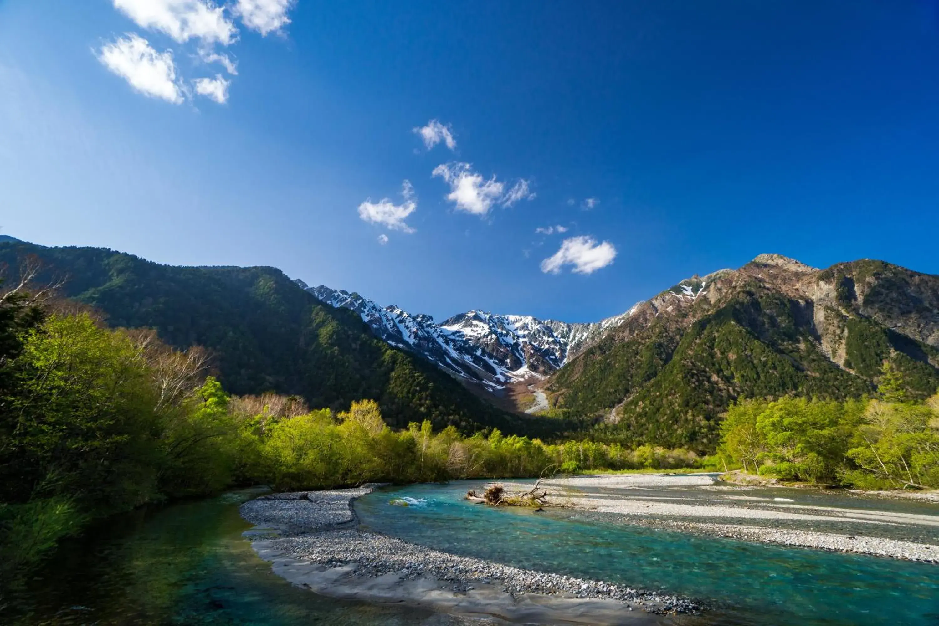
[[[395,429],[372,399],[335,411],[299,396],[230,395],[208,375],[202,348],[109,328],[84,305],[29,293],[28,278],[0,295],[0,579],[96,519],[233,485],[317,489],[698,462],[685,450],[549,444],[454,425],[435,432],[428,419]]]

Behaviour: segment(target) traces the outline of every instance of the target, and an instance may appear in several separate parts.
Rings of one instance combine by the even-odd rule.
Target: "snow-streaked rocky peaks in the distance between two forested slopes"
[[[297,283],[331,306],[358,313],[388,344],[490,390],[553,373],[632,311],[591,324],[470,311],[437,324],[430,315],[412,315],[395,305],[382,307],[357,293]]]

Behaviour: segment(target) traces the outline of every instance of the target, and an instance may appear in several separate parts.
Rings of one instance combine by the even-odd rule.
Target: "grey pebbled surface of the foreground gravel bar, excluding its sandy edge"
[[[700,610],[698,603],[674,595],[523,570],[480,558],[459,557],[364,532],[355,527],[357,520],[351,502],[372,488],[366,485],[360,489],[262,496],[242,504],[240,512],[244,519],[255,525],[246,534],[254,540],[254,547],[262,557],[280,559],[288,570],[296,570],[298,564],[315,564],[318,566],[316,572],[320,574],[316,580],[329,581],[332,587],[336,586],[336,577],[324,577],[323,573],[328,570],[341,573],[341,588],[346,592],[356,580],[364,583],[369,579],[393,582],[400,591],[393,598],[398,602],[408,601],[407,597],[397,597],[407,596],[408,581],[421,582],[422,590],[432,585],[438,591],[462,596],[472,594],[474,589],[486,588],[490,593],[485,598],[485,608],[493,615],[499,615],[499,610],[495,606],[498,603],[493,602],[492,590],[498,590],[508,603],[516,603],[518,597],[526,596],[612,601],[619,608],[606,608],[627,614],[635,607],[639,609],[637,618],[642,612],[664,615]],[[313,587],[308,580],[305,578],[304,584]],[[316,590],[328,594],[330,586],[323,585]],[[369,600],[369,591],[374,589],[374,585],[362,584],[360,588],[361,599]],[[377,595],[381,597],[374,599],[389,600],[387,588],[382,588]],[[422,598],[427,598],[426,593]],[[526,618],[530,617],[526,614]],[[624,615],[620,617],[625,618]],[[615,623],[628,622],[617,620]]]

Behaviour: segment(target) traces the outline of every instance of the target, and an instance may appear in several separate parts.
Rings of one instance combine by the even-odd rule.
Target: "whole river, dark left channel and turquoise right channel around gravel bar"
[[[478,483],[469,483],[478,486]],[[547,572],[660,588],[716,604],[708,624],[939,624],[939,566],[708,539],[575,511],[490,509],[466,483],[380,490],[356,502],[363,527]],[[241,533],[246,490],[108,520],[66,542],[16,588],[4,624],[466,623],[417,608],[331,600],[270,572]],[[419,506],[392,506],[408,496]],[[825,496],[812,496],[821,498]],[[909,503],[890,503],[920,511]],[[932,540],[934,538],[924,537]],[[478,622],[472,622],[478,623]]]

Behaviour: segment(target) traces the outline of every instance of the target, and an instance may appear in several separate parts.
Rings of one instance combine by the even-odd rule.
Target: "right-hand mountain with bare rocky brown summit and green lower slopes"
[[[885,360],[914,398],[939,386],[939,276],[762,254],[640,303],[546,388],[609,438],[713,450],[733,400],[861,396]]]

